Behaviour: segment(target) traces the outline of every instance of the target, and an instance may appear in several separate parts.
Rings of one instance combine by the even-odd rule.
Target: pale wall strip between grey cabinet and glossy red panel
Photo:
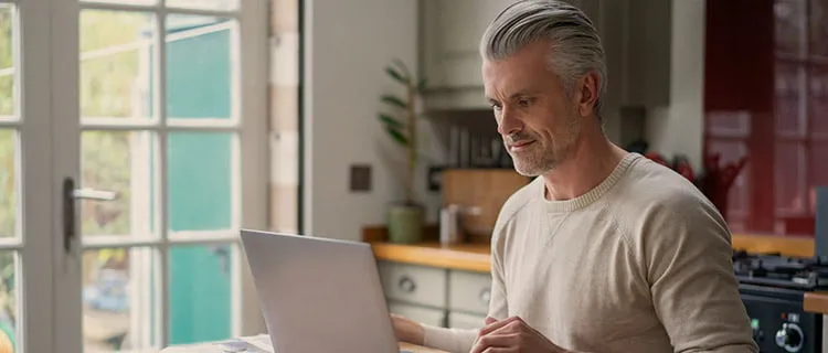
[[[704,0],[672,0],[670,106],[648,114],[650,150],[701,168],[704,122]]]

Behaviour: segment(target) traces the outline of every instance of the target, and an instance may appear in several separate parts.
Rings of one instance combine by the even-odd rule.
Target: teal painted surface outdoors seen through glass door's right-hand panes
[[[168,44],[168,117],[230,117],[229,50],[227,31]],[[224,132],[168,135],[164,152],[170,231],[231,226],[232,139],[231,133]],[[170,248],[170,344],[230,338],[230,253],[219,249],[215,246]]]

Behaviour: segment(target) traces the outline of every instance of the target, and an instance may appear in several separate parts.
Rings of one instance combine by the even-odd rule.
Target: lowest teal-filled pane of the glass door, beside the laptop
[[[234,245],[170,248],[170,344],[231,336]]]

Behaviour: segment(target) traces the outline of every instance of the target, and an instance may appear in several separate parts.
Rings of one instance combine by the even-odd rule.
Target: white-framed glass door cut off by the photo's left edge
[[[0,351],[53,351],[49,15],[0,0]]]

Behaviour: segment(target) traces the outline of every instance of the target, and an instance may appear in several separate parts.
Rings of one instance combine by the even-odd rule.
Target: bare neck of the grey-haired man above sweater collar
[[[543,175],[546,200],[571,200],[587,193],[609,176],[627,154],[603,133],[584,138],[565,162]]]

